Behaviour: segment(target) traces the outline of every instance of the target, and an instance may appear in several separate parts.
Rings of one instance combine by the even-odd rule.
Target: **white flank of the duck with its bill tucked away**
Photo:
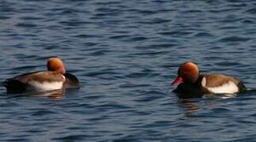
[[[29,84],[32,88],[36,88],[37,90],[56,90],[63,88],[63,81],[55,81],[55,82],[38,82],[38,81],[30,81]]]

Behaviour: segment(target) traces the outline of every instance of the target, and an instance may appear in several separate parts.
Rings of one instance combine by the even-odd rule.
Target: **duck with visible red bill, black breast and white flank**
[[[224,74],[200,74],[197,65],[185,62],[178,68],[178,77],[172,85],[179,98],[197,98],[209,94],[229,94],[244,92],[245,85],[235,77]]]

